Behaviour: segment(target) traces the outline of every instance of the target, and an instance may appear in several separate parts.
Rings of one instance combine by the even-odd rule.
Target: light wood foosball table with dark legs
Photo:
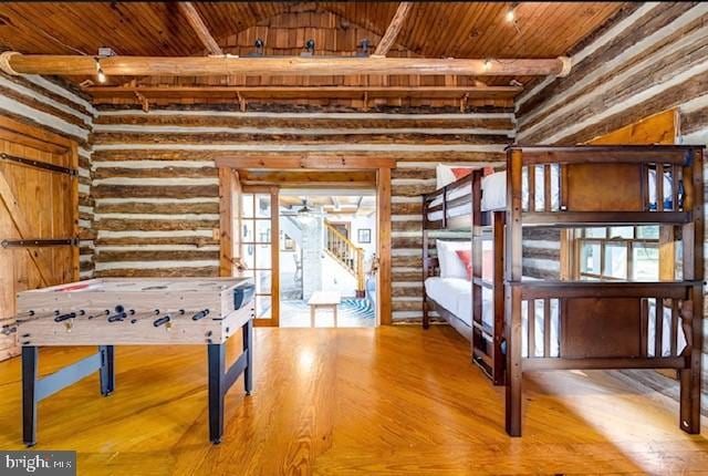
[[[242,278],[92,279],[20,292],[15,321],[22,345],[22,426],[37,442],[37,404],[98,372],[101,393],[115,389],[114,345],[204,344],[208,355],[209,438],[220,443],[223,401],[243,374],[253,391],[253,294]],[[242,330],[243,351],[226,370],[226,343]],[[98,352],[38,379],[40,346],[97,345]]]

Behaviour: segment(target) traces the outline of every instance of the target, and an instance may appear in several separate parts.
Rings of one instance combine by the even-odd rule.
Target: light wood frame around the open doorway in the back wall
[[[240,184],[238,183],[239,169],[279,169],[279,170],[329,170],[329,172],[343,172],[343,170],[374,170],[376,173],[376,217],[377,217],[377,234],[378,244],[376,247],[376,257],[378,258],[378,270],[376,273],[376,324],[388,325],[392,323],[392,259],[391,259],[391,169],[396,167],[396,161],[387,157],[341,157],[323,156],[321,153],[299,153],[299,154],[282,154],[279,156],[272,156],[263,154],[249,155],[247,157],[233,157],[225,156],[217,157],[216,166],[219,168],[219,214],[221,230],[220,237],[220,273],[221,276],[238,276],[236,275],[236,263],[238,262],[238,246],[233,246],[232,237],[235,235],[235,220],[233,204],[238,204],[238,197],[235,195],[240,194]],[[236,184],[233,183],[236,182]],[[346,185],[346,183],[343,183]],[[313,187],[317,186],[316,182],[312,183]],[[246,188],[246,187],[243,187]],[[275,186],[278,189],[278,186]],[[250,188],[249,188],[250,189]],[[271,219],[273,215],[271,214]],[[271,230],[273,228],[271,225]],[[272,249],[278,247],[272,246]],[[279,270],[275,269],[278,265],[278,257],[274,258],[273,273]],[[273,276],[273,284],[279,281]],[[273,294],[274,296],[274,294]],[[277,324],[275,324],[277,325]]]

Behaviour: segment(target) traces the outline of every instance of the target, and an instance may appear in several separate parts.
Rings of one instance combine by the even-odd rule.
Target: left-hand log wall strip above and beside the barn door
[[[91,278],[94,231],[88,137],[95,115],[93,105],[63,83],[37,75],[0,73],[0,114],[52,131],[79,144],[81,278]]]

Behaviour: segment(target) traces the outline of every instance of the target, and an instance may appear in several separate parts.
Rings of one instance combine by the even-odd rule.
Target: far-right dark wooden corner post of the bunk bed
[[[680,428],[689,434],[700,433],[700,373],[704,332],[704,158],[702,151],[691,151],[691,163],[684,167],[686,188],[685,209],[693,220],[683,227],[684,280],[695,281],[683,312],[690,318],[685,321],[690,354],[688,368],[680,371]]]

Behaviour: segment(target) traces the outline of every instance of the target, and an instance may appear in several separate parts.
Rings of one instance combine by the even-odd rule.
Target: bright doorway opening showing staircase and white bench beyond
[[[376,325],[375,189],[282,189],[280,325]]]

